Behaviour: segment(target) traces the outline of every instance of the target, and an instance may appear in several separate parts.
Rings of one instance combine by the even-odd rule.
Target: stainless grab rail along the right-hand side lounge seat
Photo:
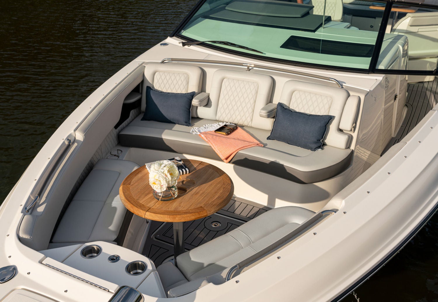
[[[250,264],[253,264],[257,260],[260,260],[263,257],[267,256],[268,254],[272,253],[277,248],[285,245],[288,241],[292,240],[294,237],[297,237],[298,235],[303,233],[306,229],[315,225],[317,222],[319,222],[321,219],[323,219],[324,216],[326,216],[327,214],[333,215],[335,213],[336,213],[336,211],[334,211],[334,210],[325,210],[325,211],[322,211],[318,214],[315,214],[311,219],[307,220],[307,222],[298,226],[297,229],[294,229],[292,232],[290,232],[289,234],[287,234],[283,238],[277,240],[276,242],[265,247],[263,250],[259,251],[258,253],[255,253],[254,255],[247,257],[246,259],[240,261],[238,264],[231,267],[230,270],[228,271],[228,273],[226,274],[225,281],[229,281],[231,278],[233,278],[233,274],[236,271],[238,271],[239,269],[244,268]]]

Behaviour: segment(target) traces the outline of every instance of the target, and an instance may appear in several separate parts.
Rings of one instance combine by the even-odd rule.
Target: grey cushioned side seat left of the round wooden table
[[[115,240],[126,213],[119,197],[120,184],[138,167],[127,160],[99,160],[74,195],[52,242]]]

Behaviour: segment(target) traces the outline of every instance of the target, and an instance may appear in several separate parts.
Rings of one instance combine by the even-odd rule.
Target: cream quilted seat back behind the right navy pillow
[[[284,84],[279,102],[308,114],[333,115],[323,142],[346,149],[350,146],[350,135],[339,130],[339,122],[348,97],[348,91],[342,88],[290,80]]]

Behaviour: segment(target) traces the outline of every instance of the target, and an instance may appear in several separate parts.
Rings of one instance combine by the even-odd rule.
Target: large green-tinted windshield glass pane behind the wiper
[[[272,59],[368,69],[384,8],[375,0],[207,0],[179,34],[232,42],[244,48],[206,43]],[[393,62],[405,42],[385,38]],[[386,69],[386,61],[381,58],[378,67]]]

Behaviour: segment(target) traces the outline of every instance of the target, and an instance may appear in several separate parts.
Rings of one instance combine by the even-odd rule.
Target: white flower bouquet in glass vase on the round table
[[[149,184],[157,192],[164,192],[177,184],[180,172],[170,160],[158,160],[149,168]]]

